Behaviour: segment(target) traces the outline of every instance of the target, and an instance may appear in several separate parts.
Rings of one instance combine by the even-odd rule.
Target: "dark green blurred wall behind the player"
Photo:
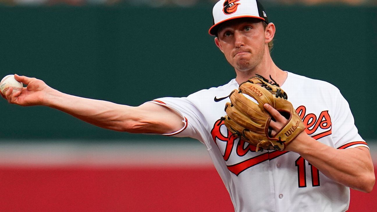
[[[377,136],[377,8],[268,7],[282,69],[336,85],[362,137]],[[197,8],[0,7],[0,75],[44,80],[68,94],[137,106],[187,96],[235,77]],[[371,88],[369,88],[371,86]],[[310,94],[308,94],[310,95]],[[0,101],[1,139],[127,139],[46,107]]]

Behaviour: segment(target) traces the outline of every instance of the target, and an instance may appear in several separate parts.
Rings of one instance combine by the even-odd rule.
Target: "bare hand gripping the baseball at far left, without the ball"
[[[18,104],[21,106],[40,105],[49,90],[52,90],[44,81],[36,78],[14,75],[15,80],[26,84],[27,87],[20,91],[13,92],[13,88],[9,88],[5,94],[1,93],[3,98],[6,98],[9,103]]]

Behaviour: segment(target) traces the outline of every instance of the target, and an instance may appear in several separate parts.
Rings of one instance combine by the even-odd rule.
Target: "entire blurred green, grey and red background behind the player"
[[[131,106],[225,84],[235,74],[208,35],[215,2],[0,0],[0,77]],[[336,85],[377,161],[366,90],[377,80],[377,1],[262,3],[277,28],[277,66]],[[0,111],[0,211],[234,211],[199,141],[109,131],[5,100]],[[351,189],[349,211],[375,211],[376,194]]]

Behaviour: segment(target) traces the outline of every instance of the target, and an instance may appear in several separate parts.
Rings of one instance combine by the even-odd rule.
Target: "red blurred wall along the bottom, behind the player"
[[[185,168],[0,168],[1,212],[234,211],[212,166]],[[349,212],[374,212],[371,194],[351,190]]]

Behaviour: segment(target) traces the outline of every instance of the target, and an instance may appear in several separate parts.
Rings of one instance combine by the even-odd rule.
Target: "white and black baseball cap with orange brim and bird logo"
[[[213,7],[213,26],[208,31],[216,35],[219,25],[236,18],[259,18],[268,22],[267,14],[258,0],[220,0]]]

